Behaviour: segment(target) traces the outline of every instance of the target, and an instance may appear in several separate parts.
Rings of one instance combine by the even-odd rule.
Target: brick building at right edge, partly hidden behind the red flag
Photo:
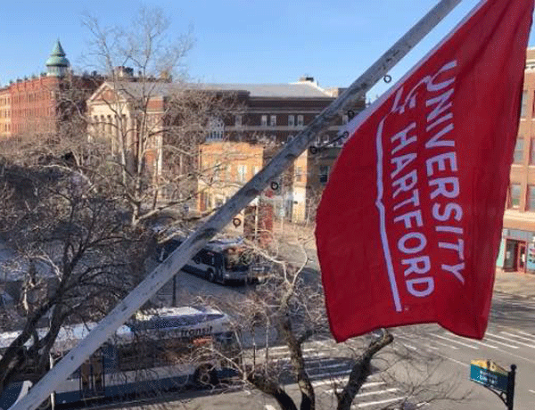
[[[535,48],[527,50],[523,99],[497,265],[535,272]]]

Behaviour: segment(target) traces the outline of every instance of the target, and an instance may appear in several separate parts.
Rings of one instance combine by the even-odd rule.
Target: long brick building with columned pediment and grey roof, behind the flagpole
[[[181,120],[180,116],[178,119],[169,116],[173,99],[180,93],[197,91],[228,102],[229,107],[219,106],[218,110],[210,111],[204,124],[195,125],[202,127],[204,137],[198,147],[198,159],[191,160],[187,166],[199,173],[195,191],[200,195],[194,206],[202,213],[226,201],[263,167],[273,152],[304,129],[342,91],[323,89],[313,78],[274,85],[177,85],[161,79],[151,83],[147,78],[136,78],[127,68],[119,69],[115,76],[118,80],[103,83],[87,101],[92,124],[90,135],[107,138],[111,143],[119,139],[126,141],[128,152],[135,151],[142,135],[153,135],[153,149],[144,150],[144,155],[146,164],[157,175],[161,169],[169,170],[176,165],[167,163],[158,149],[166,144],[170,127],[176,127]],[[141,117],[136,112],[140,101],[145,101],[148,107]],[[364,106],[362,99],[353,110],[361,111]],[[333,139],[349,117],[349,113],[341,113],[317,145]],[[152,127],[142,127],[144,123]],[[315,209],[315,200],[323,190],[339,150],[339,146],[330,145],[315,154],[304,152],[297,165],[276,181],[278,189],[270,194],[269,200],[276,217],[303,222],[311,216],[310,209]],[[227,158],[234,160],[227,163]]]

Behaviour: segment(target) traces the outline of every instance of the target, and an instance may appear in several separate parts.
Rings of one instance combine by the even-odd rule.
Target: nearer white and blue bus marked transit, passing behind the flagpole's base
[[[62,328],[51,351],[51,362],[59,360],[94,326]],[[0,333],[0,355],[16,335]],[[216,347],[225,355],[216,355]],[[208,307],[155,309],[121,326],[60,384],[42,408],[110,403],[161,395],[190,385],[214,385],[235,377],[228,357],[239,362],[237,339],[226,314]],[[0,408],[13,406],[34,382],[31,372],[22,373],[2,392]]]

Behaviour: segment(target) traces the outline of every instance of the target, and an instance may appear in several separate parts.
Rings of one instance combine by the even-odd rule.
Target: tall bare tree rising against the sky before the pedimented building
[[[91,16],[84,24],[87,58],[107,78],[88,102],[90,141],[106,148],[93,150],[98,172],[131,210],[132,225],[191,207],[199,144],[232,111],[234,95],[185,82],[191,32],[172,38],[160,9],[142,8],[128,29],[103,28]]]

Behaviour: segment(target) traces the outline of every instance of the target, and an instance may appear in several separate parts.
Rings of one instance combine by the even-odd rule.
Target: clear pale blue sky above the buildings
[[[479,0],[463,0],[391,71],[398,79],[455,27]],[[191,78],[220,83],[288,83],[302,75],[320,86],[349,86],[438,0],[160,0],[172,34],[193,27],[185,63]],[[105,25],[131,21],[141,2],[113,0],[0,0],[0,84],[45,70],[56,38],[75,69],[89,33],[90,12]],[[535,45],[531,36],[530,45]],[[374,99],[386,85],[368,95]]]

